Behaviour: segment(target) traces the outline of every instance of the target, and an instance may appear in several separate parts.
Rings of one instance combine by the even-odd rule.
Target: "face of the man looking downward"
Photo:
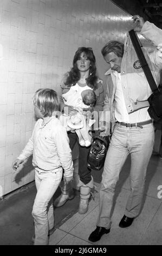
[[[118,57],[114,52],[109,52],[103,58],[105,59],[106,63],[110,65],[112,70],[115,70],[118,73],[120,73],[122,60],[121,57]]]

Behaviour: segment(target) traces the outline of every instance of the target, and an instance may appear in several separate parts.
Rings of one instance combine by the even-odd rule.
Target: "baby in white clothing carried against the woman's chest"
[[[88,110],[89,107],[93,107],[96,103],[96,95],[92,89],[83,90],[81,93],[70,87],[70,90],[62,94],[64,104],[67,106],[73,106],[77,114],[69,116],[63,114],[60,116],[60,121],[63,126],[66,127],[67,131],[76,132],[79,137],[79,143],[82,147],[89,147],[91,144],[91,137],[88,133],[90,126],[95,123],[95,120],[86,120],[83,115],[84,111]]]

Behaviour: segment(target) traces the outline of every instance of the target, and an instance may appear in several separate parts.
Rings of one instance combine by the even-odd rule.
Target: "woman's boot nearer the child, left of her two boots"
[[[68,184],[63,182],[63,186],[61,187],[61,195],[54,201],[54,206],[60,207],[64,205],[68,200],[72,200],[74,197],[75,194],[70,182]]]

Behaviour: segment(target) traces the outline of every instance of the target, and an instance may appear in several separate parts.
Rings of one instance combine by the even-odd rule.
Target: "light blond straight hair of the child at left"
[[[38,89],[34,94],[33,104],[40,109],[43,117],[51,117],[54,111],[60,110],[60,100],[53,89]]]

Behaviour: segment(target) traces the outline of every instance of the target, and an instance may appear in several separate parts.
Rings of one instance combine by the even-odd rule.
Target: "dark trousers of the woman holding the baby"
[[[89,147],[82,147],[79,144],[79,138],[77,137],[77,134],[74,132],[68,132],[69,137],[69,146],[70,149],[73,150],[75,143],[77,142],[77,145],[79,146],[79,168],[78,168],[78,174],[80,180],[86,185],[89,183],[89,181],[92,179],[90,174],[90,169],[87,168],[87,156],[90,150]]]

